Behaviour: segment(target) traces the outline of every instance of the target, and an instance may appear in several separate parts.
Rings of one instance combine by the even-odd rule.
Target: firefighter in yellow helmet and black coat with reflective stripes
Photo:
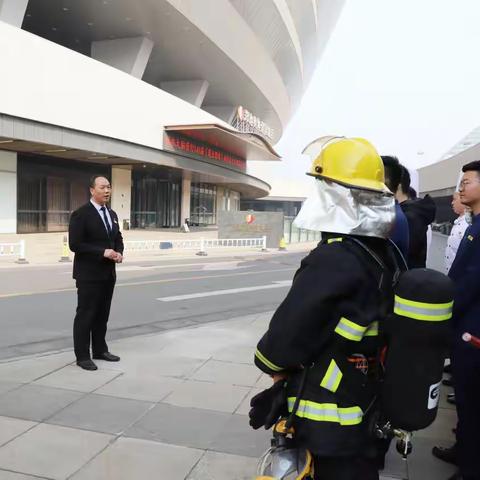
[[[376,480],[368,379],[376,375],[381,322],[393,308],[399,272],[399,254],[387,240],[394,197],[382,159],[364,139],[324,137],[304,153],[314,158],[308,175],[316,189],[296,224],[321,231],[322,241],[302,260],[255,364],[278,385],[271,392],[285,390],[296,441],[313,454],[315,480]]]

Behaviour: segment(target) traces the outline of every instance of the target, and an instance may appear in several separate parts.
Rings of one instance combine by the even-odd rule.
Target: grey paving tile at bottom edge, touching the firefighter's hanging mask
[[[258,459],[206,452],[186,480],[251,480],[254,478]]]

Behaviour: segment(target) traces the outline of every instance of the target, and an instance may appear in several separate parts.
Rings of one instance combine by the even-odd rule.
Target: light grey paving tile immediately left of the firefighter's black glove
[[[187,380],[163,401],[179,407],[233,413],[249,391],[248,387]]]

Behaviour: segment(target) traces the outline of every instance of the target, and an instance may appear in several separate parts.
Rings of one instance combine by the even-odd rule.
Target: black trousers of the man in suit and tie
[[[77,281],[77,313],[73,322],[73,345],[77,360],[108,352],[105,341],[115,278],[101,282]]]

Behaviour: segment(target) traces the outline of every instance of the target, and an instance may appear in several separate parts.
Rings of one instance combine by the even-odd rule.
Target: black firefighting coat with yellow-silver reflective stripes
[[[302,260],[258,343],[255,364],[270,375],[290,375],[290,411],[300,396],[294,427],[301,445],[316,455],[354,455],[368,441],[365,417],[376,392],[372,372],[356,368],[355,360],[372,360],[381,347],[397,260],[388,240],[330,233],[322,238]]]

